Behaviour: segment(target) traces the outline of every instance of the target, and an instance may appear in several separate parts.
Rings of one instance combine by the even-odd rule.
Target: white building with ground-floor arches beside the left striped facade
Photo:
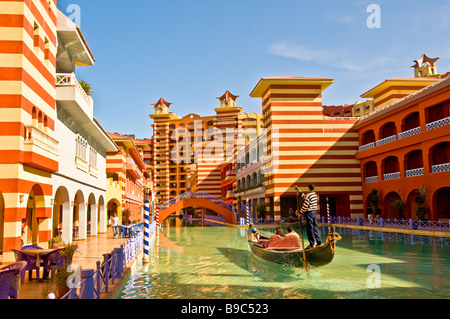
[[[106,152],[114,142],[94,118],[94,102],[75,75],[93,66],[80,28],[57,12],[56,118],[59,167],[53,173],[52,236],[64,242],[106,232]]]

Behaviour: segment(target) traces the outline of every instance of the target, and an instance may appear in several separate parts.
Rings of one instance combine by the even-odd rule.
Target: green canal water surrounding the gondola
[[[118,298],[450,297],[450,238],[339,228],[332,263],[305,272],[254,256],[244,229],[171,224],[151,249],[150,263],[139,263]]]

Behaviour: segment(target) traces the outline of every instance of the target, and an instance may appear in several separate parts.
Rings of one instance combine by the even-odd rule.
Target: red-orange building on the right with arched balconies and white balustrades
[[[374,104],[355,125],[364,206],[376,190],[382,217],[450,219],[450,74],[437,74],[436,60],[423,55],[414,77],[361,95]]]

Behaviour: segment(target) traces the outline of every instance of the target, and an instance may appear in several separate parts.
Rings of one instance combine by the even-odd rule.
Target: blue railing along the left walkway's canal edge
[[[150,235],[156,229],[156,222],[150,224]],[[142,250],[144,242],[143,232],[137,232],[129,238],[120,248],[114,248],[111,254],[105,254],[101,264],[96,263],[96,269],[82,269],[80,282],[73,286],[61,299],[100,299],[102,293],[109,292],[109,286],[114,285],[115,279],[123,276],[124,266],[136,259]]]

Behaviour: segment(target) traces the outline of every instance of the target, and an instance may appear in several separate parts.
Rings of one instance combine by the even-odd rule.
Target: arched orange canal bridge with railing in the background
[[[227,223],[236,224],[236,212],[233,205],[205,192],[183,193],[158,205],[159,220],[162,222],[170,214],[188,207],[208,208],[225,218]]]

